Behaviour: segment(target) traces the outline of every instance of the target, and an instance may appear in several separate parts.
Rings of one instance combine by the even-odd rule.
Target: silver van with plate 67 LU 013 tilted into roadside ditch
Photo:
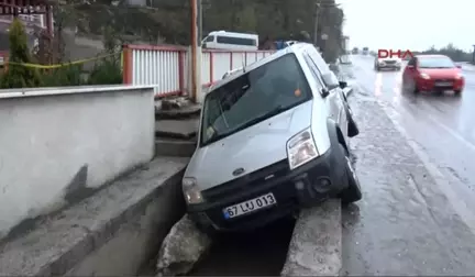
[[[307,43],[218,81],[181,184],[197,226],[252,230],[330,197],[358,201],[347,146],[358,129],[345,86]]]

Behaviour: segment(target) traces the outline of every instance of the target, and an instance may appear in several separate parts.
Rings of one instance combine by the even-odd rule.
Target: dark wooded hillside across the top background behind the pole
[[[131,7],[131,2],[148,7]],[[203,34],[228,30],[254,32],[262,38],[307,41],[314,33],[317,3],[321,7],[318,33],[329,35],[327,45],[319,46],[334,56],[343,23],[343,11],[334,0],[202,0]],[[60,4],[55,18],[87,36],[101,35],[108,26],[122,41],[188,45],[189,14],[189,0],[74,0]]]

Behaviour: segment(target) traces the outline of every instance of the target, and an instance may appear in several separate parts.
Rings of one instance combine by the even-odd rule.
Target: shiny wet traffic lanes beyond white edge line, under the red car
[[[353,74],[362,89],[389,108],[439,170],[459,182],[459,192],[467,195],[464,201],[475,202],[475,70],[463,71],[462,98],[451,92],[413,96],[401,92],[402,71],[376,73],[372,57],[353,59]]]

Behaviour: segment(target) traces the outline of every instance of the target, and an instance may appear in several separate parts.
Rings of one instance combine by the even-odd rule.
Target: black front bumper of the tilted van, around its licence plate
[[[213,199],[199,204],[189,204],[188,214],[202,230],[210,228],[220,232],[250,231],[287,217],[302,207],[311,207],[335,197],[346,186],[346,175],[341,155],[329,149],[318,158],[287,173],[253,186],[230,189],[228,185],[212,188]],[[280,163],[287,163],[281,160]],[[245,178],[245,176],[244,176]],[[233,185],[230,185],[233,186]],[[275,206],[256,210],[238,218],[227,219],[223,210],[250,199],[272,192]],[[207,190],[202,191],[206,200]]]

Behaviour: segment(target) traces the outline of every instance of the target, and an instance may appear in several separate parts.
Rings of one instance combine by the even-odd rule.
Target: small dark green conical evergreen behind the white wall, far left
[[[9,65],[2,76],[2,88],[31,88],[41,84],[36,68],[26,67],[30,64],[30,51],[26,43],[26,33],[22,22],[14,19],[9,33],[10,52]]]

